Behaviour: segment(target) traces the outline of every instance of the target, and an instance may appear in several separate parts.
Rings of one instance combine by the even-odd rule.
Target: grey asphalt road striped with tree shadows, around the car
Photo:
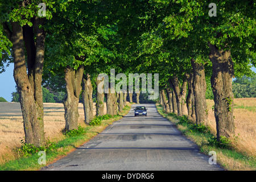
[[[42,170],[223,170],[218,164],[210,165],[210,156],[201,154],[154,104],[144,104],[147,117],[134,117],[135,106],[92,140]]]

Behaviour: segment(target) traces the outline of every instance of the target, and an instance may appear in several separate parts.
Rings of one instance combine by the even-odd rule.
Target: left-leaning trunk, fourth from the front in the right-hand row
[[[177,76],[175,75],[172,79],[168,79],[169,84],[171,88],[174,90],[175,97],[176,97],[176,103],[177,103],[177,115],[181,116],[182,115],[182,110],[181,110],[181,95],[180,95],[180,86],[179,86],[179,80]]]

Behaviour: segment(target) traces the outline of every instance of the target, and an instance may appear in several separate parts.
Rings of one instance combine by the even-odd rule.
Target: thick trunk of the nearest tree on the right
[[[234,76],[234,65],[230,51],[219,50],[216,46],[209,44],[212,61],[212,84],[214,96],[214,115],[217,127],[217,139],[220,136],[230,137],[234,134],[234,94],[232,91],[232,78]]]

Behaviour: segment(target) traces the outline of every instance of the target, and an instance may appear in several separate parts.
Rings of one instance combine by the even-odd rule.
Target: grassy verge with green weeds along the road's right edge
[[[255,171],[256,158],[255,156],[243,154],[236,150],[236,141],[231,141],[222,138],[220,143],[217,143],[216,138],[210,131],[210,127],[195,125],[188,121],[187,116],[178,117],[174,113],[165,113],[162,106],[156,104],[156,108],[164,118],[175,123],[177,129],[191,139],[200,148],[200,152],[208,155],[209,151],[215,151],[217,163],[228,171]]]

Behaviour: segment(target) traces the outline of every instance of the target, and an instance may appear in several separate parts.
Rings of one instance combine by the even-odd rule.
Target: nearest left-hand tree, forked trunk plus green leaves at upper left
[[[14,80],[20,93],[20,106],[26,143],[44,144],[43,94],[44,24],[51,19],[53,2],[46,1],[46,16],[38,14],[34,1],[2,1],[1,56],[13,51]],[[2,41],[3,40],[3,41]],[[11,48],[11,51],[10,51]]]

